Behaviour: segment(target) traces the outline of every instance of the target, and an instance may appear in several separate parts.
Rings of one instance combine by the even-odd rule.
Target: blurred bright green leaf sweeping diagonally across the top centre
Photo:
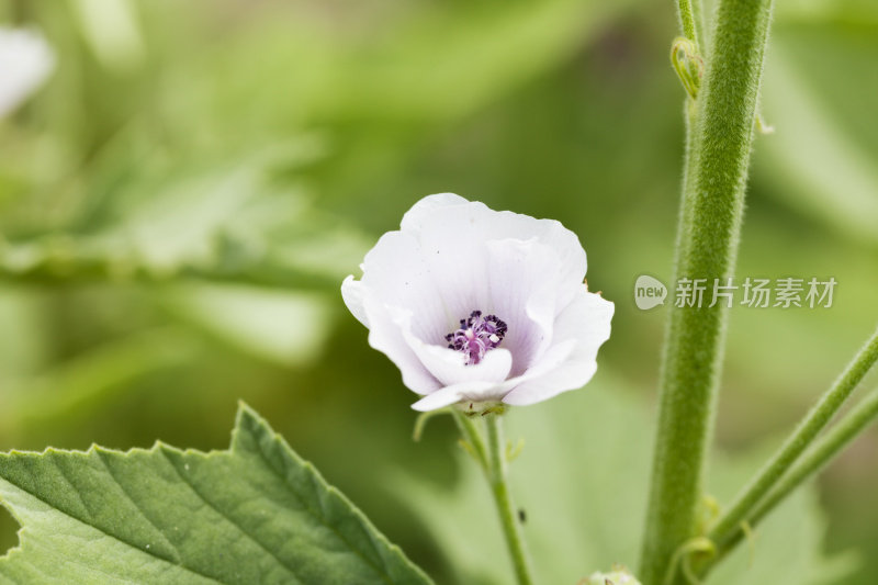
[[[225,58],[217,60],[223,67],[216,81],[226,89],[221,98],[248,104],[258,100],[262,115],[274,111],[288,120],[410,124],[455,119],[563,63],[629,5],[578,0],[427,3],[412,7],[393,26],[373,24],[374,34],[350,34],[345,42],[339,42],[338,22],[307,12],[285,19],[289,13],[274,7],[273,22],[238,38],[261,45],[264,60],[254,67],[249,52],[228,45]],[[278,108],[262,90],[267,83],[294,100]]]

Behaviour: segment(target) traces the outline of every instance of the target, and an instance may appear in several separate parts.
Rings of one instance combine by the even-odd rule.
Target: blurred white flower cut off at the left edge
[[[55,56],[43,35],[0,27],[0,117],[36,91],[54,66]]]

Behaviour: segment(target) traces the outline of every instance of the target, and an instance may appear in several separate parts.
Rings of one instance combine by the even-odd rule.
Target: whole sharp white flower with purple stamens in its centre
[[[429,195],[360,268],[341,284],[345,304],[424,396],[417,410],[581,387],[610,336],[614,304],[588,292],[585,250],[552,220]]]

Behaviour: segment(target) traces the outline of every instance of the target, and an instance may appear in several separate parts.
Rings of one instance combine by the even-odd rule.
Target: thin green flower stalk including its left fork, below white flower
[[[483,417],[487,427],[487,442],[482,438],[482,431],[473,418],[457,409],[453,410],[453,415],[463,440],[469,443],[469,448],[472,449],[471,453],[481,464],[491,485],[491,493],[497,506],[506,547],[509,550],[509,556],[515,569],[516,581],[518,585],[533,585],[530,558],[521,533],[518,511],[509,491],[502,415],[488,414]]]

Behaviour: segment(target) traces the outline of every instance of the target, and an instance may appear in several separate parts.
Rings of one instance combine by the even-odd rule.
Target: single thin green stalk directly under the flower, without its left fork
[[[521,535],[521,526],[518,521],[518,514],[509,493],[509,483],[506,474],[506,442],[503,439],[503,420],[500,415],[487,415],[487,455],[488,455],[488,482],[494,494],[494,502],[497,504],[497,513],[500,516],[503,533],[506,537],[506,545],[513,559],[515,575],[519,585],[532,585],[533,577],[530,569],[528,553],[525,548],[525,539]]]

